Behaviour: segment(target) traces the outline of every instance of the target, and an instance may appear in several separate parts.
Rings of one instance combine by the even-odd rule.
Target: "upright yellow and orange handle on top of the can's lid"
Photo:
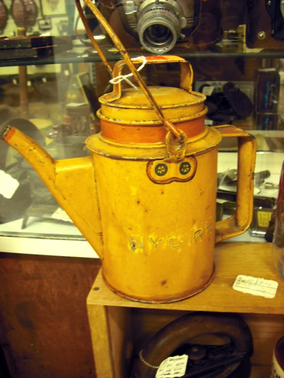
[[[147,64],[159,64],[159,63],[180,63],[180,88],[191,92],[192,91],[192,80],[193,71],[192,67],[187,60],[180,58],[175,55],[160,55],[160,56],[146,56],[131,59],[134,64],[143,63],[143,59],[146,59]],[[113,77],[118,77],[121,75],[123,68],[127,66],[125,60],[119,60],[113,69]],[[113,92],[110,94],[108,101],[114,101],[121,96],[121,85],[120,81],[113,84]]]

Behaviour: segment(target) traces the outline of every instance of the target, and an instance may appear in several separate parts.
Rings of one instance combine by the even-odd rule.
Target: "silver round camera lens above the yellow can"
[[[174,47],[180,35],[179,19],[166,9],[151,9],[141,15],[138,35],[146,50],[165,53]]]

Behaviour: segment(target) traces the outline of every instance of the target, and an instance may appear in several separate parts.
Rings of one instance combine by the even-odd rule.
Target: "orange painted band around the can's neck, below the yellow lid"
[[[205,116],[183,122],[176,122],[175,127],[184,131],[188,138],[193,138],[205,130]],[[167,129],[162,124],[121,124],[100,120],[102,136],[106,139],[125,143],[159,143],[164,142]]]

